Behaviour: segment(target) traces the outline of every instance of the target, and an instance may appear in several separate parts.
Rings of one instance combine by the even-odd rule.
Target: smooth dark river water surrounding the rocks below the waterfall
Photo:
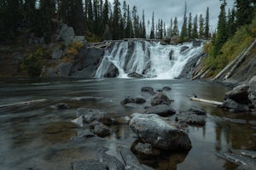
[[[131,146],[135,134],[126,118],[143,112],[150,95],[141,88],[155,90],[165,86],[174,99],[172,107],[185,111],[193,105],[207,111],[203,127],[190,126],[186,132],[192,149],[188,153],[168,152],[152,160],[140,161],[156,169],[235,169],[216,153],[230,149],[256,150],[256,118],[243,113],[229,113],[214,105],[189,100],[196,94],[203,99],[223,101],[230,88],[210,82],[154,79],[1,79],[0,105],[33,99],[47,99],[32,105],[0,107],[0,169],[71,169],[71,162],[96,157],[96,148],[106,146],[108,154],[119,157],[116,146]],[[125,96],[141,96],[144,105],[120,105]],[[66,103],[69,108],[56,110],[52,105]],[[78,108],[108,111],[119,123],[104,139],[76,138],[79,127],[71,122]]]

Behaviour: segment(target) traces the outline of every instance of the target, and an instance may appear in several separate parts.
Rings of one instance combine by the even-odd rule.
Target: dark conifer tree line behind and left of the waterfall
[[[57,26],[56,21],[72,26],[76,35],[95,35],[98,40],[123,38],[157,38],[179,36],[181,41],[210,37],[209,8],[205,19],[202,14],[187,16],[185,3],[183,27],[178,28],[177,17],[169,26],[163,20],[148,20],[146,30],[144,11],[138,14],[124,0],[0,0],[0,40],[14,40],[20,34],[33,33],[50,42]],[[198,26],[199,24],[199,26]]]

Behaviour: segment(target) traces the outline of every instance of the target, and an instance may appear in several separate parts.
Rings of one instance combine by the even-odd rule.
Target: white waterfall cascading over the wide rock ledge
[[[188,60],[201,51],[202,46],[193,47],[192,42],[183,45],[161,45],[142,40],[115,42],[112,49],[105,51],[96,77],[104,77],[110,65],[114,65],[121,78],[137,73],[145,77],[173,79],[180,75]]]

